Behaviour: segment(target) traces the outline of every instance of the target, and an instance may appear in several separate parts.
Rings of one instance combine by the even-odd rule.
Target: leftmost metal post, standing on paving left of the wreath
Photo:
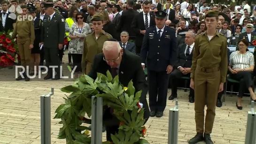
[[[54,88],[51,93],[43,94],[40,98],[41,108],[41,144],[51,144],[51,96],[54,95]]]

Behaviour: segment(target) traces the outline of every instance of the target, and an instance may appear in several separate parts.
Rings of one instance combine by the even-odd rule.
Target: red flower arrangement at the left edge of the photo
[[[16,38],[11,39],[9,32],[0,32],[0,67],[12,66],[19,58],[16,57],[17,51]]]

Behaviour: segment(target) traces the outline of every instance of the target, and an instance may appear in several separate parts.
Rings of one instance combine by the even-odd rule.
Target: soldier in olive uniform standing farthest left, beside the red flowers
[[[11,38],[14,39],[16,35],[18,35],[17,44],[21,57],[21,65],[26,68],[26,66],[31,66],[31,49],[34,47],[33,45],[35,40],[35,30],[33,21],[30,21],[29,19],[24,19],[25,15],[27,15],[27,6],[22,5],[21,8],[23,10],[23,13],[22,15],[19,15],[19,18],[17,18]],[[24,78],[22,76],[19,76],[18,78],[16,78],[16,80],[19,81],[25,79],[26,81],[29,81],[30,78],[27,74],[29,74],[29,71],[23,74]]]

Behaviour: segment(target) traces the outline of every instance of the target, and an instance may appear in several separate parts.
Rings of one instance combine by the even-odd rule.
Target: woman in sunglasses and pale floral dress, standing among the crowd
[[[78,72],[82,72],[81,61],[82,54],[84,51],[84,41],[85,37],[79,38],[76,36],[76,33],[81,33],[87,35],[91,33],[91,29],[88,23],[83,22],[84,17],[81,12],[78,12],[76,15],[76,22],[72,24],[70,28],[70,45],[69,45],[69,53],[72,54],[73,66],[77,66],[75,69],[75,78],[78,78]]]

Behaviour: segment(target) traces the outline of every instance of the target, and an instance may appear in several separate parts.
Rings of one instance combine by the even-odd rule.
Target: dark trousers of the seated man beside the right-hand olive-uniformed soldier
[[[178,69],[174,69],[170,74],[170,82],[171,82],[171,94],[177,95],[177,80],[180,79],[182,76],[190,77],[190,73],[187,75],[183,75],[181,71]],[[189,97],[194,98],[194,90],[190,89]]]

